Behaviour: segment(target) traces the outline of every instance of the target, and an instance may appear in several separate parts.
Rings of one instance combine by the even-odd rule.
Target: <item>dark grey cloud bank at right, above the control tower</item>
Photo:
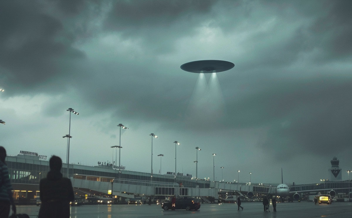
[[[233,109],[237,113],[232,121],[238,128],[269,127],[259,148],[273,158],[289,160],[299,150],[324,156],[350,147],[351,77],[280,83],[280,88],[243,99]]]

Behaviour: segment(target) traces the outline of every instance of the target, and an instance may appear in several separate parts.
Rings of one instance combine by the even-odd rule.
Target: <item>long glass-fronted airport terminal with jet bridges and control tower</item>
[[[335,159],[334,157],[332,160],[332,165],[334,165],[332,169],[329,169],[334,177],[336,175],[335,178],[339,178],[339,175],[341,175],[341,169],[338,167],[337,161],[337,158]],[[39,156],[36,153],[21,151],[17,156],[7,156],[6,164],[16,201],[24,201],[26,203],[35,201],[36,197],[40,195],[39,181],[45,178],[47,172],[50,170],[47,157]],[[338,169],[340,169],[340,171],[336,173]],[[231,182],[214,182],[204,179],[195,181],[192,175],[183,175],[181,173],[177,173],[175,182],[174,172],[153,174],[151,180],[150,173],[126,171],[123,169],[119,171],[110,164],[99,164],[97,166],[70,164],[68,173],[67,164],[63,164],[61,172],[64,177],[70,175],[74,188],[93,187],[95,191],[101,192],[106,196],[115,196],[115,198],[124,195],[126,191],[128,191],[127,194],[130,194],[130,196],[142,193],[146,193],[150,196],[172,196],[175,194],[180,194],[181,196],[207,196],[212,195],[211,190],[214,196],[225,192],[229,195],[240,194],[246,196],[248,192],[252,192],[254,197],[256,197],[258,194],[275,193],[275,188],[278,185],[249,185],[248,183],[234,184],[233,182],[231,184]],[[86,186],[88,183],[93,185]],[[328,180],[319,184],[288,184],[288,186],[290,192],[302,193],[300,196],[303,199],[308,195],[318,193],[314,190],[321,189],[331,189],[334,190],[338,198],[348,198],[348,193],[352,188],[351,180]],[[116,191],[116,188],[119,188],[119,191]],[[328,193],[328,191],[326,191],[326,193]]]

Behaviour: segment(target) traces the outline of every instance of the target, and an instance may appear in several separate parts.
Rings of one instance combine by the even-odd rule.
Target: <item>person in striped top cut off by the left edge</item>
[[[10,205],[12,205],[12,213],[16,214],[16,206],[12,197],[12,185],[10,177],[8,177],[5,158],[6,150],[0,146],[0,218],[8,218]]]

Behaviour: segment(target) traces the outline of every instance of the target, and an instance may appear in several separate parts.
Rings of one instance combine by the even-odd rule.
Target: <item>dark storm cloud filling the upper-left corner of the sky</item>
[[[0,65],[6,69],[1,79],[14,93],[67,76],[61,66],[69,68],[70,60],[84,57],[65,40],[61,21],[40,12],[37,2],[0,4]]]

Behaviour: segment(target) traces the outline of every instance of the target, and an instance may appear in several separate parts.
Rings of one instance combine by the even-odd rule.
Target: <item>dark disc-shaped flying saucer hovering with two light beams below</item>
[[[230,70],[235,65],[225,60],[196,60],[181,65],[181,69],[192,73],[212,73]]]

